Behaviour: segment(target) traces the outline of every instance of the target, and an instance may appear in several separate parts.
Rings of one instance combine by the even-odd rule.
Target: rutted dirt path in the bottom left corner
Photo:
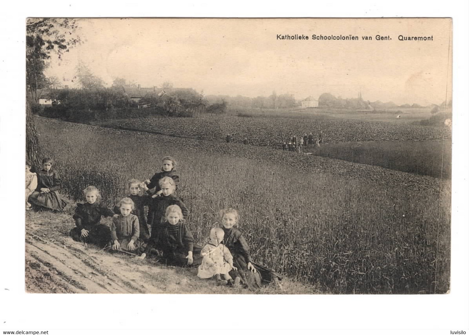
[[[25,288],[35,293],[253,293],[216,286],[197,277],[197,269],[138,261],[76,242],[66,214],[26,213]],[[313,293],[311,287],[284,281],[283,290],[266,286],[257,293]]]

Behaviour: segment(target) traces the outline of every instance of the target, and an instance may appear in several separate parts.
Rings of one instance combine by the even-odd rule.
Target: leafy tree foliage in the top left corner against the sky
[[[80,43],[76,35],[78,19],[30,18],[26,22],[26,87],[38,101],[38,89],[48,82],[44,70],[49,66],[51,54],[59,59],[70,48]]]

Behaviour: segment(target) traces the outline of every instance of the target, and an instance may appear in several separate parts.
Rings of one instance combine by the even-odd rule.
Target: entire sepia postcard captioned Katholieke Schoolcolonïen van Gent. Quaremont
[[[28,18],[25,291],[449,293],[452,36]]]

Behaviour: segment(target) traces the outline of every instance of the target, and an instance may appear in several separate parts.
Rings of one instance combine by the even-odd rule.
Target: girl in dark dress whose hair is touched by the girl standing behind
[[[146,185],[136,179],[130,179],[127,183],[127,189],[129,190],[128,198],[130,198],[134,203],[132,214],[136,215],[138,218],[140,228],[139,238],[144,242],[150,239],[150,231],[148,230],[147,221],[145,218],[145,206],[149,206],[151,204],[151,197],[143,193],[145,188]],[[120,204],[114,207],[114,213],[121,213]]]

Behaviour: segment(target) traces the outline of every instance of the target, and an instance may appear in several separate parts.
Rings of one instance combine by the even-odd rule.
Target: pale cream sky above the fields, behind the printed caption
[[[108,85],[121,77],[142,87],[170,80],[206,95],[275,90],[296,99],[324,92],[347,98],[361,91],[365,100],[398,104],[451,99],[450,19],[83,19],[79,25],[83,44],[60,64],[53,58],[46,71],[70,87],[83,61]],[[315,41],[313,34],[359,40]],[[377,41],[377,34],[392,40]],[[399,41],[399,35],[433,40]]]

